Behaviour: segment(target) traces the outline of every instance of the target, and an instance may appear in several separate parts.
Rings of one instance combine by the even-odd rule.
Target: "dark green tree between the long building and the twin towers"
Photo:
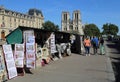
[[[58,31],[59,30],[59,26],[55,25],[51,21],[46,21],[45,23],[43,23],[43,27],[41,29],[50,30],[50,31]]]

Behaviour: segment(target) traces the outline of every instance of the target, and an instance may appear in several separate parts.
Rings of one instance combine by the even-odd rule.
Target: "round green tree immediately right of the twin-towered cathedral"
[[[84,28],[86,36],[100,36],[100,30],[95,24],[87,24]]]

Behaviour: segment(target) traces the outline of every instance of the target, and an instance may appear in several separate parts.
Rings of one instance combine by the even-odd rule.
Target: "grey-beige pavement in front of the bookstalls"
[[[84,56],[72,53],[44,67],[32,69],[32,74],[25,73],[7,82],[115,82],[109,56],[111,50],[108,46],[105,48],[106,55]]]

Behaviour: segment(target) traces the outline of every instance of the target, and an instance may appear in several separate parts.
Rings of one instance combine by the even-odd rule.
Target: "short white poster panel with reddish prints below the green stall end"
[[[15,44],[14,59],[16,67],[24,67],[24,44]]]

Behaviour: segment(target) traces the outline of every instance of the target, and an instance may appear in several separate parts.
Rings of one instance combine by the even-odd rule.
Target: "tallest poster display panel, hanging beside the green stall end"
[[[24,42],[25,42],[25,51],[26,51],[26,67],[35,68],[35,36],[33,30],[24,31]]]

